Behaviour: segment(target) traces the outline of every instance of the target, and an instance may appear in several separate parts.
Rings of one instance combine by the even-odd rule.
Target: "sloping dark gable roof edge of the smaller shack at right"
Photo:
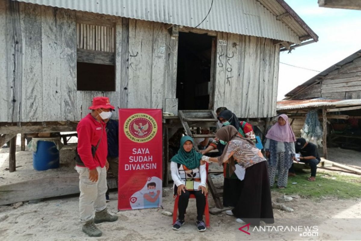
[[[336,69],[340,69],[342,68],[343,65],[348,64],[350,62],[352,62],[353,60],[357,59],[358,57],[360,57],[361,55],[361,49],[356,51],[355,53],[353,53],[352,55],[344,58],[343,60],[341,60],[340,62],[330,66],[329,68],[323,70],[321,73],[318,73],[316,76],[310,78],[308,81],[304,82],[303,84],[297,86],[295,89],[291,90],[290,92],[288,92],[285,96],[286,99],[290,99],[292,98],[292,96],[301,93],[306,87],[314,84],[315,82],[319,82],[322,81],[322,77],[327,76],[327,74],[329,74],[330,72],[336,70]]]

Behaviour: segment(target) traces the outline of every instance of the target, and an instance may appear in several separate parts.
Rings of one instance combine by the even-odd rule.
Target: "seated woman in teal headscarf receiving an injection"
[[[181,138],[181,146],[177,155],[171,158],[170,170],[174,181],[174,194],[179,195],[178,220],[173,224],[173,229],[179,230],[184,224],[184,214],[188,206],[190,194],[196,197],[198,231],[205,231],[203,214],[205,208],[206,164],[201,161],[202,154],[194,149],[193,139],[189,136]]]

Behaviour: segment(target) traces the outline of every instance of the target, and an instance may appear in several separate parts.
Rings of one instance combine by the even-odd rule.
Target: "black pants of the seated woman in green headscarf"
[[[179,196],[178,201],[178,218],[180,220],[184,220],[184,214],[186,213],[186,209],[188,207],[189,195],[194,194],[196,196],[196,206],[197,206],[197,220],[203,220],[204,208],[205,208],[205,196],[202,193],[202,190],[199,191],[188,191]]]

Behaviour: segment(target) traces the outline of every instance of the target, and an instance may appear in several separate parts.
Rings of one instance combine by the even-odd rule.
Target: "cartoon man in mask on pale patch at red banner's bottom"
[[[158,177],[148,177],[144,187],[136,191],[130,198],[132,209],[152,208],[161,206],[162,180]]]

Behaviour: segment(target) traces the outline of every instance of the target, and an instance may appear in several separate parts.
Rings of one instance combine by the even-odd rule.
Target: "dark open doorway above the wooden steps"
[[[208,109],[211,86],[212,40],[206,34],[179,33],[178,109]]]

